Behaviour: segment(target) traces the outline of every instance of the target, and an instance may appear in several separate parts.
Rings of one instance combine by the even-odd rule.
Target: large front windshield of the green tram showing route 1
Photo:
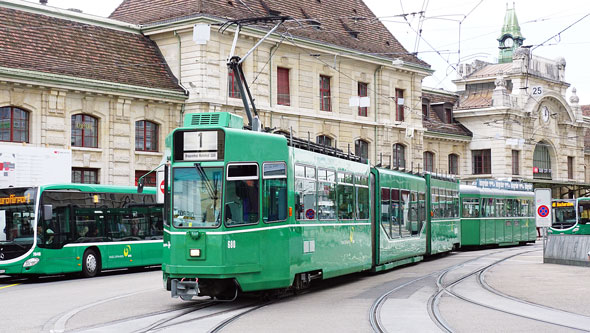
[[[217,227],[221,221],[222,168],[175,168],[173,225]]]

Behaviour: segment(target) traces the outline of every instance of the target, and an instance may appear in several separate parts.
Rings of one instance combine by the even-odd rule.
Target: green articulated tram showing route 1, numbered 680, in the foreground
[[[187,114],[166,144],[162,270],[173,297],[302,289],[459,244],[451,178],[371,168],[333,148],[243,130],[230,113]]]

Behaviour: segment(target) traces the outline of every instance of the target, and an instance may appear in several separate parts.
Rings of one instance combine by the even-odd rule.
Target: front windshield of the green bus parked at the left
[[[0,189],[0,262],[31,249],[35,236],[36,188]]]

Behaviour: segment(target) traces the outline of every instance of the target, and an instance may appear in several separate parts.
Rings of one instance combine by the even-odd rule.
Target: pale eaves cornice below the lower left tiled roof
[[[183,92],[178,91],[132,86],[6,67],[0,67],[0,82],[2,81],[100,94],[122,95],[133,98],[157,99],[162,102],[171,103],[183,103],[187,98]]]

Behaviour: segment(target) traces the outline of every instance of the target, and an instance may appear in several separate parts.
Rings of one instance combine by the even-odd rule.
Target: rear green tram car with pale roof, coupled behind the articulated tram
[[[534,242],[534,193],[461,185],[461,246]]]

